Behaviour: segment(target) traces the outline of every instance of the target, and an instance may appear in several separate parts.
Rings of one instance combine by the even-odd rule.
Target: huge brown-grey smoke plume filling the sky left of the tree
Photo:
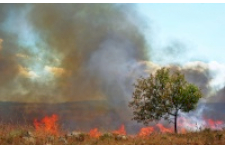
[[[12,51],[10,55],[15,60],[12,65],[17,68],[12,76],[1,77],[13,83],[8,91],[1,93],[5,94],[1,99],[23,102],[114,99],[119,102],[125,97],[125,83],[130,84],[116,83],[127,77],[124,66],[147,59],[145,40],[137,26],[141,20],[132,6],[2,4],[1,7],[1,38],[6,40],[3,51]],[[9,43],[5,35],[16,37]],[[7,65],[9,58],[4,58],[7,62],[1,64],[12,69]],[[98,73],[93,72],[93,67]],[[118,95],[112,97],[113,90],[106,89],[118,89]]]

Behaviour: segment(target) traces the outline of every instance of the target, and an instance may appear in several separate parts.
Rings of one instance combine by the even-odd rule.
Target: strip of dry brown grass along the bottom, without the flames
[[[61,133],[51,135],[38,133],[33,126],[0,125],[1,145],[26,145],[26,144],[55,144],[55,145],[172,145],[172,144],[225,144],[225,130],[212,131],[205,129],[200,132],[186,134],[152,133],[148,137],[119,136],[105,133],[98,138],[90,137],[88,133]]]

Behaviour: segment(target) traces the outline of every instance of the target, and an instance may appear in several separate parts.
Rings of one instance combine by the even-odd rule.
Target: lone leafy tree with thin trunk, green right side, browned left
[[[185,80],[180,71],[161,68],[147,78],[140,78],[134,84],[133,119],[148,124],[160,119],[174,123],[177,133],[179,111],[189,112],[196,108],[202,97],[200,89]]]

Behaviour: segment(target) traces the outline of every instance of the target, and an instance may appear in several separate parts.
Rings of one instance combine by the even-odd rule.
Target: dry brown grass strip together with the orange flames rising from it
[[[172,145],[172,144],[225,144],[225,129],[215,130],[205,128],[198,132],[182,132],[174,134],[172,128],[162,124],[155,127],[141,128],[136,135],[127,135],[124,125],[117,130],[102,133],[98,128],[91,129],[88,133],[72,131],[66,133],[58,125],[58,116],[46,116],[41,120],[34,119],[31,126],[0,124],[0,144],[2,145]],[[217,123],[217,122],[215,122]],[[220,124],[218,121],[217,124]],[[158,128],[158,130],[155,130]]]

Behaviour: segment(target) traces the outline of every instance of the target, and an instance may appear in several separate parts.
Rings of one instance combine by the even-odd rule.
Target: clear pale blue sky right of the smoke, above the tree
[[[187,46],[184,61],[225,63],[225,4],[137,4],[138,11],[151,24],[146,34],[160,50],[173,41]],[[154,34],[153,38],[148,37]],[[153,57],[154,60],[154,57]]]

